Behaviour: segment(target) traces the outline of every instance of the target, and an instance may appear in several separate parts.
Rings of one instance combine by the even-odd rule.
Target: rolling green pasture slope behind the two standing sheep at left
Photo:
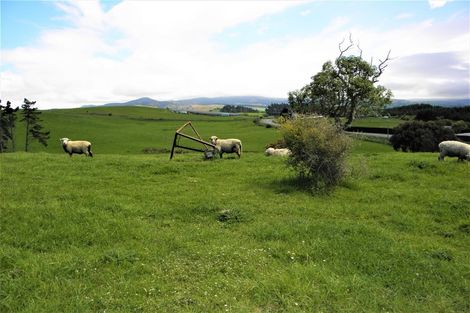
[[[139,154],[145,148],[169,150],[176,129],[189,120],[207,141],[212,135],[243,138],[245,151],[264,151],[264,146],[279,136],[277,130],[254,127],[252,117],[187,115],[146,107],[48,110],[41,118],[44,127],[51,132],[51,139],[47,148],[33,142],[33,152],[64,153],[59,143],[62,137],[91,141],[97,155]],[[24,127],[18,124],[16,145],[17,151],[21,151]]]

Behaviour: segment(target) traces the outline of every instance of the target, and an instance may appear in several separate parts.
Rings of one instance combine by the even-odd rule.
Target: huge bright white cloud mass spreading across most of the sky
[[[27,97],[49,108],[141,96],[159,100],[247,94],[285,97],[307,84],[325,61],[334,59],[339,42],[349,33],[360,40],[366,59],[385,57],[389,49],[397,60],[423,53],[470,54],[464,15],[390,30],[359,28],[354,21],[337,17],[304,37],[227,51],[215,42],[215,35],[297,2],[128,1],[108,12],[96,1],[58,5],[73,27],[46,31],[34,46],[2,50],[2,62],[15,68],[1,73],[2,99],[19,104]],[[237,29],[229,35],[243,36]],[[468,58],[454,60],[454,69],[468,68]],[[426,76],[419,73],[422,67],[410,75],[410,69],[401,65],[394,69],[395,64],[398,61],[390,62],[382,83],[393,87],[396,97],[435,96],[438,88],[425,88]]]

